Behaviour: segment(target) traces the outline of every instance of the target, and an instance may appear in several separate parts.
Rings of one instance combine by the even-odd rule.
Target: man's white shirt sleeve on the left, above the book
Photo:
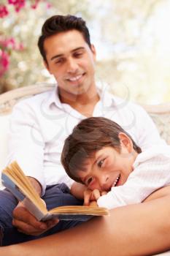
[[[9,154],[7,165],[17,161],[26,176],[35,178],[45,193],[43,175],[45,143],[34,108],[24,100],[13,108],[9,121]]]

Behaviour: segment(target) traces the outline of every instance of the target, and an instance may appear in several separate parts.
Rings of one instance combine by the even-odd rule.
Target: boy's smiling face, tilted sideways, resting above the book
[[[92,158],[85,160],[85,170],[79,170],[77,175],[89,189],[109,191],[125,183],[133,171],[137,153],[127,144],[120,147],[120,153],[112,146],[101,148]]]

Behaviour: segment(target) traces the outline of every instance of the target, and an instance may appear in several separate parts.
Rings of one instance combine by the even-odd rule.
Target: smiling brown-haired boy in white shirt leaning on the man
[[[95,198],[100,207],[140,203],[170,183],[170,147],[142,152],[122,127],[107,118],[80,121],[65,140],[61,162],[74,181],[88,187],[85,204]]]

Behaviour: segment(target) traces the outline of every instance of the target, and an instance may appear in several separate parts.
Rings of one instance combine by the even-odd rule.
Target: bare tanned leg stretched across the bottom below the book
[[[1,247],[0,254],[141,256],[163,252],[170,248],[169,194],[170,187],[160,189],[146,203],[115,208],[109,217],[93,218],[53,236]]]

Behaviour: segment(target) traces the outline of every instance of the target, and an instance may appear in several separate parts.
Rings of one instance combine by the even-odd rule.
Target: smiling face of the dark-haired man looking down
[[[94,62],[96,52],[89,47],[80,31],[61,32],[45,39],[45,64],[54,75],[60,91],[83,94],[95,86]]]

